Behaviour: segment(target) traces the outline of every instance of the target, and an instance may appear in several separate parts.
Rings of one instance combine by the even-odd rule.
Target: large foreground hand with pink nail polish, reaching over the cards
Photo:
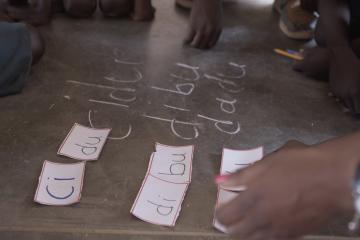
[[[229,176],[221,185],[247,190],[220,206],[217,219],[240,239],[295,239],[351,211],[357,161],[338,158],[351,152],[336,154],[349,146],[341,141],[315,147],[290,142]]]

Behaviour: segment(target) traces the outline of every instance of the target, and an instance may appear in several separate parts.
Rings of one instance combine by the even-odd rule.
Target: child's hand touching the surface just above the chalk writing
[[[212,48],[222,31],[221,0],[194,0],[190,32],[185,43],[195,48]]]

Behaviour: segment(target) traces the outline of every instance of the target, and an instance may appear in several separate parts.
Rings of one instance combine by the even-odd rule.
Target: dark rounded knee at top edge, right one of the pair
[[[99,6],[105,16],[124,17],[131,12],[131,1],[129,0],[100,0]]]

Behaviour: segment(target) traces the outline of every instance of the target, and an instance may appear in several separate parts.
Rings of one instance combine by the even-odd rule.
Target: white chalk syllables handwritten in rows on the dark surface
[[[124,78],[122,76],[115,76],[113,73],[107,74],[103,80],[107,81],[107,83],[91,83],[91,82],[82,82],[82,81],[73,81],[68,80],[67,83],[74,84],[78,86],[92,87],[98,90],[106,90],[108,91],[108,99],[94,99],[89,98],[88,101],[95,104],[101,104],[103,106],[109,107],[117,107],[118,109],[124,109],[127,111],[131,111],[134,104],[138,101],[137,96],[137,86],[134,85],[140,82],[144,76],[141,71],[141,62],[131,61],[131,60],[123,60],[123,53],[120,50],[114,50],[115,62],[123,67],[125,71],[131,71],[131,76],[128,78]],[[221,90],[226,91],[230,94],[237,94],[243,91],[243,87],[241,85],[242,79],[246,76],[247,66],[243,64],[238,64],[236,62],[230,61],[226,64],[226,71],[223,72],[213,72],[213,73],[205,73],[201,70],[199,66],[193,66],[184,62],[177,62],[174,64],[175,68],[172,72],[169,73],[170,82],[172,87],[164,87],[164,86],[148,86],[153,91],[157,91],[163,94],[173,94],[171,95],[172,100],[176,100],[178,98],[179,101],[184,102],[186,98],[191,97],[195,90],[199,87],[198,84],[202,79],[210,80],[217,84]],[[120,85],[116,86],[116,84]],[[128,87],[124,87],[128,86]],[[167,83],[168,85],[168,83]],[[141,98],[140,98],[141,99]],[[164,98],[167,99],[167,98]],[[231,114],[235,114],[237,110],[238,101],[235,97],[228,96],[224,97],[214,97],[209,99],[209,101],[217,102],[219,105],[219,111],[221,113],[226,113],[226,118],[230,118]],[[173,102],[173,101],[171,101]],[[151,104],[151,101],[148,101]],[[185,104],[184,104],[185,105]],[[207,120],[213,123],[213,129],[228,135],[236,135],[241,131],[241,124],[239,121],[231,121],[230,119],[217,119],[217,117],[209,117],[206,114],[198,114],[193,113],[187,106],[182,106],[182,104],[169,104],[162,103],[160,106],[163,109],[169,110],[167,117],[158,117],[155,116],[154,113],[148,112],[144,113],[141,116],[153,119],[157,121],[161,121],[164,123],[168,123],[170,126],[170,132],[183,140],[194,140],[200,136],[200,132],[205,132],[205,128],[200,128],[202,123],[199,123],[200,120]],[[171,110],[171,111],[170,111]],[[177,111],[177,112],[176,112]],[[181,121],[179,120],[179,115],[174,117],[174,113],[183,113],[183,114],[193,114],[193,121]],[[213,111],[212,111],[213,112]],[[160,114],[159,114],[160,115]],[[163,115],[163,113],[161,113]],[[166,115],[163,115],[166,116]],[[216,116],[216,115],[215,115]],[[223,116],[223,115],[222,115]],[[187,118],[188,119],[188,118]],[[232,118],[233,119],[233,118]],[[92,126],[90,115],[89,115],[89,123]],[[93,126],[92,126],[93,127]],[[129,125],[128,132],[121,137],[108,137],[110,140],[124,140],[128,138],[133,131],[131,125]],[[80,143],[78,143],[80,144]],[[88,154],[91,152],[90,148],[82,145],[84,154]],[[180,166],[178,166],[180,168]]]

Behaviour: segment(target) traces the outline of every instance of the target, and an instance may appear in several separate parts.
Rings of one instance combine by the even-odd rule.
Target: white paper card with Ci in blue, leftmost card
[[[45,161],[34,201],[44,205],[71,205],[80,202],[85,162],[60,164]]]

